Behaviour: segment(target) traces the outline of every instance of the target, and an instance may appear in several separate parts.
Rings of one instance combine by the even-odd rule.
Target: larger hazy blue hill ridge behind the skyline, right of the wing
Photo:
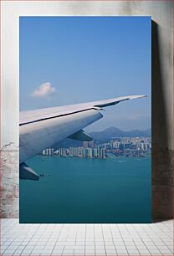
[[[122,131],[116,127],[110,127],[104,131],[91,132],[90,136],[94,138],[95,141],[105,141],[116,137],[141,137],[141,136],[151,136],[151,129],[145,131],[133,130],[133,131]]]

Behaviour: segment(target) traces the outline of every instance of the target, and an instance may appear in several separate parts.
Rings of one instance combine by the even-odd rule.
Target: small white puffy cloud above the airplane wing
[[[47,83],[41,84],[37,89],[33,90],[32,96],[45,98],[54,94],[55,91],[56,89],[52,86],[52,84],[47,82]]]

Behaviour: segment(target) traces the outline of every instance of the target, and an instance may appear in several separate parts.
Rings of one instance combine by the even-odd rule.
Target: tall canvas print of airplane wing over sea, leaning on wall
[[[20,17],[20,223],[151,223],[151,17]]]

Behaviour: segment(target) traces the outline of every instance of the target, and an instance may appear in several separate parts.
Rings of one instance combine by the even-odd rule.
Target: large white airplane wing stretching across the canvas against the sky
[[[100,110],[124,100],[143,97],[146,95],[130,95],[110,100],[20,112],[20,164],[66,137],[79,141],[91,141],[92,138],[82,129],[103,117]],[[28,166],[24,166],[23,170],[28,172]]]

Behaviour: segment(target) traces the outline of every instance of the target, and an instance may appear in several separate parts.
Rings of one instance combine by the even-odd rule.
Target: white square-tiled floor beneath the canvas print
[[[173,221],[19,224],[1,219],[1,255],[173,255]]]

